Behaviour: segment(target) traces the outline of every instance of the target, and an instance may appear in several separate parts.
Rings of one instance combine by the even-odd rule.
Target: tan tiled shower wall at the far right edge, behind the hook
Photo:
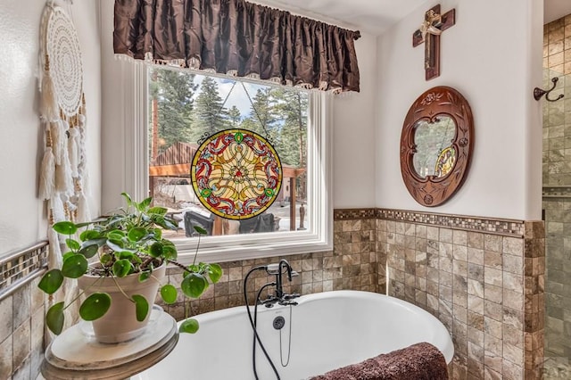
[[[571,15],[545,25],[543,82],[552,86],[543,102],[543,210],[546,228],[545,373],[571,378]]]

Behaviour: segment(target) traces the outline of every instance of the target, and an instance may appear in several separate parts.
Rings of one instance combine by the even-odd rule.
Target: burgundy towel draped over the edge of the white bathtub
[[[442,352],[423,342],[310,380],[448,380],[448,367]]]

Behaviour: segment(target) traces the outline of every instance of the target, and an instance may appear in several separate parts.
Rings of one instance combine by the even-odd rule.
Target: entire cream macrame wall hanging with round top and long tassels
[[[38,194],[46,200],[50,267],[61,265],[62,220],[88,221],[86,199],[86,102],[79,38],[65,10],[46,4],[40,26],[40,119],[45,128]]]

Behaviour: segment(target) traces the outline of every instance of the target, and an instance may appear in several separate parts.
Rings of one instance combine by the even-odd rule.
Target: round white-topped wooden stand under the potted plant
[[[145,333],[128,342],[98,343],[80,322],[54,338],[41,366],[47,379],[126,379],[164,359],[178,343],[174,318],[153,308]],[[41,378],[41,377],[40,377]]]

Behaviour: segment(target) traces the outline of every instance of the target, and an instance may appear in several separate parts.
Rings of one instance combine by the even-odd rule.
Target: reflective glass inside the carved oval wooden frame
[[[456,150],[452,145],[456,124],[450,116],[439,115],[433,122],[418,120],[414,126],[413,167],[421,178],[446,176],[456,162]]]

